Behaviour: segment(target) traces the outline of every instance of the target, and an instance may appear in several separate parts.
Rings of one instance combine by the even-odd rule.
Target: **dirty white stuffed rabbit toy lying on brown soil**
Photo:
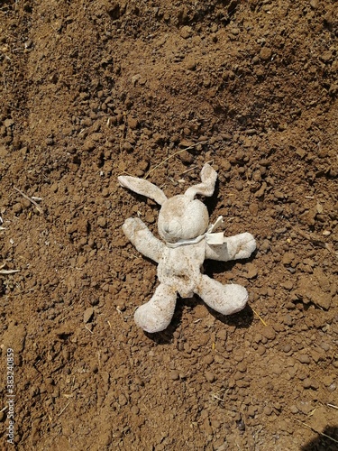
[[[223,285],[201,273],[205,259],[227,262],[250,257],[256,249],[251,234],[228,238],[214,233],[222,222],[208,226],[206,206],[196,195],[212,196],[217,172],[205,164],[202,182],[190,187],[183,195],[167,198],[164,192],[145,179],[120,176],[120,184],[127,189],[155,200],[160,204],[158,229],[160,241],[138,217],[126,219],[123,232],[136,249],[158,263],[160,285],[152,298],[135,311],[134,319],[146,332],[160,332],[169,326],[174,315],[177,295],[191,298],[197,294],[206,304],[223,315],[231,315],[244,308],[248,293],[241,285]]]

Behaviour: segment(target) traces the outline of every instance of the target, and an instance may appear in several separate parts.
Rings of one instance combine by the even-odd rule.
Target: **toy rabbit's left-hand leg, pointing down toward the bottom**
[[[151,334],[166,329],[174,315],[176,299],[176,290],[160,283],[151,300],[135,311],[135,323]]]

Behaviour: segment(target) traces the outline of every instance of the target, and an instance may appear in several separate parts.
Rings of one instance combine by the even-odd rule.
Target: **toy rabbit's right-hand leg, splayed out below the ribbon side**
[[[206,305],[223,315],[232,315],[242,310],[248,300],[248,292],[242,285],[223,285],[205,274],[201,275],[196,294]]]

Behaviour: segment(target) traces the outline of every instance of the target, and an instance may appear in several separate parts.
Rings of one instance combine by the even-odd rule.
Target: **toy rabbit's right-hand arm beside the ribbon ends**
[[[256,241],[251,234],[229,236],[224,238],[224,244],[211,245],[206,243],[206,259],[228,262],[248,258],[256,249]]]

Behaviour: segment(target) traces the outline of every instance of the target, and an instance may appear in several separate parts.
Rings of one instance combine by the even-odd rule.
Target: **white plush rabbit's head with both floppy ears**
[[[206,232],[209,215],[206,206],[196,194],[212,196],[217,173],[209,164],[201,170],[202,183],[190,187],[184,194],[167,198],[164,192],[145,179],[120,176],[120,184],[160,204],[158,228],[160,237],[169,244],[190,240]]]

